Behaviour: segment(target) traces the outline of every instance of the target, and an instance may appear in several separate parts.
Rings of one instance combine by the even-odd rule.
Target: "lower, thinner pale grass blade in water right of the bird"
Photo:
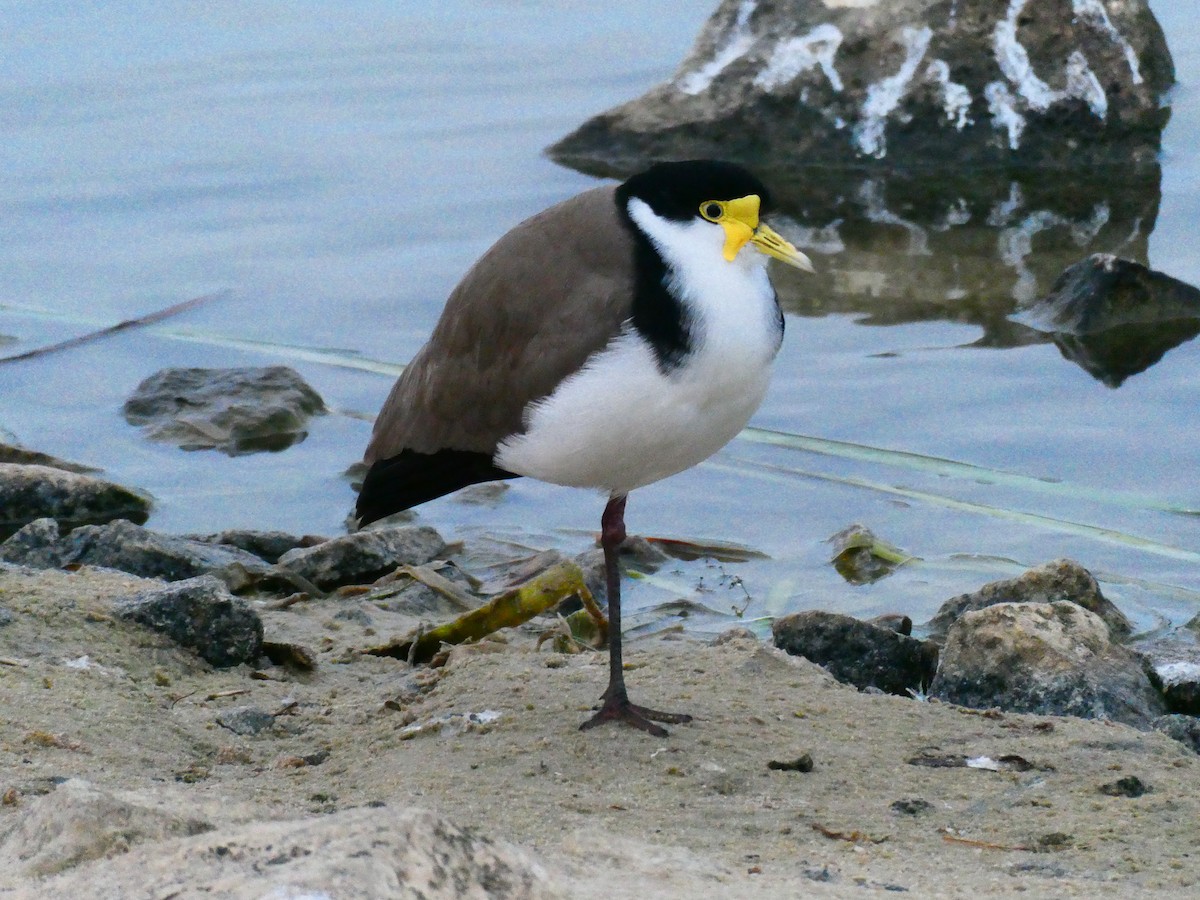
[[[733,472],[743,475],[751,475],[764,478],[770,481],[782,481],[786,482],[793,478],[808,478],[816,479],[818,481],[832,481],[839,485],[847,485],[850,487],[860,487],[866,491],[876,491],[878,493],[890,494],[893,497],[904,497],[907,500],[916,500],[918,503],[929,503],[936,506],[944,506],[946,509],[953,509],[960,512],[974,512],[978,515],[990,516],[992,518],[1003,518],[1010,522],[1020,522],[1021,524],[1034,526],[1038,528],[1046,528],[1049,530],[1060,532],[1063,534],[1074,534],[1080,538],[1090,538],[1092,540],[1103,541],[1105,544],[1116,544],[1123,547],[1133,547],[1135,550],[1144,551],[1146,553],[1153,553],[1156,556],[1169,557],[1171,559],[1182,559],[1189,563],[1200,563],[1200,553],[1192,550],[1184,550],[1183,547],[1174,547],[1170,544],[1162,544],[1148,538],[1139,538],[1135,534],[1127,534],[1126,532],[1118,532],[1112,528],[1102,528],[1100,526],[1086,524],[1084,522],[1072,522],[1066,518],[1054,518],[1052,516],[1042,516],[1036,512],[1021,512],[1020,510],[1004,509],[1002,506],[991,506],[985,503],[973,503],[970,500],[956,500],[953,497],[943,497],[942,494],[930,493],[928,491],[914,491],[908,487],[895,487],[894,485],[883,485],[877,481],[868,481],[862,478],[853,478],[848,475],[830,475],[826,472],[806,472],[804,469],[796,469],[788,466],[776,466],[773,463],[757,462],[755,460],[743,460],[733,457],[737,463],[731,466],[728,463],[709,462],[708,466],[714,466],[719,469],[726,472]]]

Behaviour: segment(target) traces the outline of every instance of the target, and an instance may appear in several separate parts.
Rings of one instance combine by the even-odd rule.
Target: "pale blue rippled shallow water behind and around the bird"
[[[301,19],[283,4],[253,16],[221,2],[0,4],[0,353],[228,292],[163,325],[0,367],[0,430],[150,491],[155,528],[342,528],[342,472],[392,380],[364,361],[407,360],[499,234],[595,184],[542,148],[670,74],[712,5],[398,6]],[[758,434],[638,491],[632,530],[770,559],[667,566],[636,584],[635,606],[689,596],[728,614],[749,593],[748,619],[821,607],[919,622],[953,594],[1069,556],[1140,628],[1200,611],[1200,518],[1164,509],[1200,508],[1200,344],[1114,373],[1009,318],[1097,250],[1200,284],[1192,6],[1154,4],[1181,83],[1160,185],[1055,198],[1002,182],[964,205],[944,185],[868,182],[836,227],[811,230],[827,223],[799,211],[780,224],[821,274],[778,277],[787,340],[754,425],[845,443]],[[312,353],[330,348],[331,360]],[[274,362],[336,410],[284,452],[182,452],[121,418],[162,367]],[[421,516],[577,551],[601,504],[520,481],[492,505],[446,498]],[[824,539],[856,521],[920,562],[847,584]]]

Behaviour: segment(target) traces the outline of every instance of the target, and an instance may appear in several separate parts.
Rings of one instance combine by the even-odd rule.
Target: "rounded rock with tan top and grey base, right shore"
[[[929,696],[965,707],[1111,719],[1135,727],[1165,712],[1144,664],[1076,604],[996,604],[950,628]]]

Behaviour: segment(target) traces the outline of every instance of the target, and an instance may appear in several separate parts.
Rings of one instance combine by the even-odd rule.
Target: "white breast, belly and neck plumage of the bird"
[[[781,332],[766,258],[746,247],[726,262],[720,226],[666,222],[640,200],[630,211],[676,272],[671,289],[692,316],[692,352],[664,372],[626,324],[530,404],[526,432],[497,449],[496,463],[509,472],[628,493],[712,456],[767,392]]]

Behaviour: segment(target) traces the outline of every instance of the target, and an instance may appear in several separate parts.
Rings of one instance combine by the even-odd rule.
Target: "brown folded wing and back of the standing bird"
[[[632,300],[634,242],[612,187],[522,222],[450,294],[376,419],[366,461],[406,450],[491,457],[532,401],[608,343]]]

